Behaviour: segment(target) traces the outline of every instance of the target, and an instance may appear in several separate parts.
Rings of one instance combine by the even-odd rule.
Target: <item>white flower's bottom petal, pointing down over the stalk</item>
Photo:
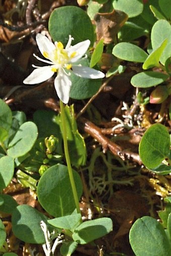
[[[67,104],[69,101],[69,92],[70,92],[71,84],[72,83],[69,75],[67,75],[63,71],[63,69],[59,69],[58,75],[56,76],[54,81],[54,86],[59,99],[64,104]]]

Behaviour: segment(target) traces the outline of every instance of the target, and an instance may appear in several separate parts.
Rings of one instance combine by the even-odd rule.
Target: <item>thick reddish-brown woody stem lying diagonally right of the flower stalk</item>
[[[84,131],[90,134],[102,145],[104,153],[109,148],[114,155],[120,157],[122,160],[132,159],[138,164],[142,164],[142,161],[137,153],[133,153],[129,150],[124,150],[121,146],[110,141],[110,139],[102,134],[101,129],[89,120],[81,118],[80,121],[84,124]]]

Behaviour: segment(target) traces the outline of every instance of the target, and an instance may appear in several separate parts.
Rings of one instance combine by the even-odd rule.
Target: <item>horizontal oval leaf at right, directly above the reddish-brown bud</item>
[[[146,71],[135,74],[131,78],[131,84],[134,87],[149,88],[157,86],[157,84],[164,82],[168,77],[168,75],[163,73]]]

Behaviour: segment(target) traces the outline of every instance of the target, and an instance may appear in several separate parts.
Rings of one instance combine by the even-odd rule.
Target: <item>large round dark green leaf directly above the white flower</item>
[[[64,6],[55,9],[49,18],[49,33],[53,41],[67,44],[69,35],[74,38],[73,44],[89,39],[94,43],[94,29],[91,19],[82,9],[75,6]]]

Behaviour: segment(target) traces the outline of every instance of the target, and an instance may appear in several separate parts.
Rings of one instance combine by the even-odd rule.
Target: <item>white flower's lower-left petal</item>
[[[51,66],[38,67],[33,72],[24,79],[24,83],[27,84],[36,84],[44,82],[50,77],[52,77],[54,72],[52,71]]]

